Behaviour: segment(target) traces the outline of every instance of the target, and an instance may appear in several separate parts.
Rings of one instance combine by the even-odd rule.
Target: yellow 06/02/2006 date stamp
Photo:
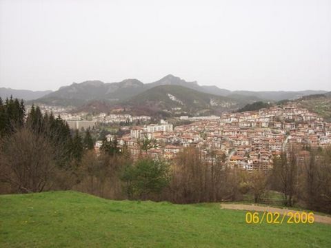
[[[245,222],[247,224],[312,224],[314,223],[313,212],[300,212],[300,211],[288,211],[281,214],[277,211],[263,211],[263,212],[246,212]]]

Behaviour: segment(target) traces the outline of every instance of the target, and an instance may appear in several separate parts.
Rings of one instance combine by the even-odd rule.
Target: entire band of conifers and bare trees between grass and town
[[[74,189],[104,198],[255,203],[279,192],[281,204],[331,212],[331,149],[303,145],[274,157],[269,171],[232,167],[217,151],[186,147],[172,161],[151,158],[144,138],[133,159],[116,136],[94,151],[90,130],[73,132],[60,116],[0,99],[0,193]]]

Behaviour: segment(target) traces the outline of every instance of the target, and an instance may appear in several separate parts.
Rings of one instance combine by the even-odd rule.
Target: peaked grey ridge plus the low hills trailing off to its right
[[[281,101],[284,99],[299,99],[309,94],[324,94],[323,90],[305,90],[299,92],[252,92],[233,91],[221,89],[214,85],[199,85],[197,81],[185,81],[178,76],[169,74],[162,79],[152,83],[142,83],[137,79],[126,79],[119,83],[103,83],[102,81],[84,81],[72,83],[71,85],[59,88],[55,92],[42,96],[38,101],[57,105],[83,105],[88,101],[103,100],[110,103],[126,101],[133,96],[161,85],[179,85],[198,92],[228,96],[228,98],[243,103],[254,103],[254,101]]]

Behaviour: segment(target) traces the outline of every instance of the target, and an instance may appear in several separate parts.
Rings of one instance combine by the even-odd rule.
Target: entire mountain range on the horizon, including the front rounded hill
[[[234,110],[256,101],[299,99],[310,94],[324,94],[323,90],[290,91],[230,91],[217,86],[199,85],[169,74],[153,83],[125,79],[118,83],[84,81],[60,87],[50,92],[32,92],[0,88],[2,98],[12,95],[29,103],[72,105],[98,110],[124,107],[135,112],[169,112],[170,114],[202,114]]]

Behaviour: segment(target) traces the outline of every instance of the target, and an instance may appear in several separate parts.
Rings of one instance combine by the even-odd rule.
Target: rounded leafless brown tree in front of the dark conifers
[[[0,178],[17,192],[42,192],[52,187],[57,170],[54,148],[45,136],[23,127],[0,143]]]

